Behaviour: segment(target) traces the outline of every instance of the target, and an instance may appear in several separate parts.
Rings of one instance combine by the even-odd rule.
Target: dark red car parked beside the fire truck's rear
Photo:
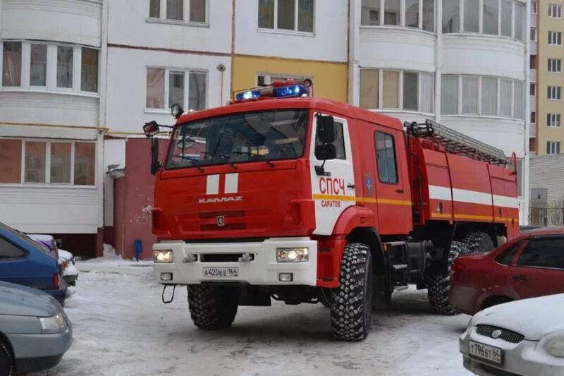
[[[528,231],[450,267],[450,305],[468,315],[492,305],[564,293],[564,227]]]

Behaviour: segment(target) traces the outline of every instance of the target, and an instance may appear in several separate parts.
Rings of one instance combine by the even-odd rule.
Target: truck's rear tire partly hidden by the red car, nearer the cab
[[[425,275],[427,279],[427,298],[431,308],[441,315],[455,315],[456,311],[448,302],[448,291],[450,291],[450,265],[459,255],[466,255],[468,248],[465,243],[453,241],[448,251],[447,269],[441,272],[431,272]]]

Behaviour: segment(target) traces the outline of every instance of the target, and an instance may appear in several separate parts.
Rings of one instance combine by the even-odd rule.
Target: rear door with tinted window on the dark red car
[[[564,293],[564,236],[530,238],[508,269],[508,281],[522,299]]]

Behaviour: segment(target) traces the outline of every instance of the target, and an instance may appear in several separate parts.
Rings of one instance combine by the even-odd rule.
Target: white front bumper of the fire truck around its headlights
[[[278,262],[276,260],[278,248],[307,248],[308,260]],[[174,255],[171,263],[154,263],[154,277],[161,284],[202,282],[306,286],[317,284],[317,241],[312,241],[310,238],[269,238],[265,241],[245,243],[171,241],[157,243],[153,245],[153,250],[172,250]],[[252,255],[253,260],[234,261],[238,258],[236,255],[245,254]],[[209,268],[220,270],[233,268],[237,270],[238,276],[204,277],[204,270],[209,271]],[[291,274],[291,281],[288,281],[288,274]],[[168,280],[170,277],[171,279]]]

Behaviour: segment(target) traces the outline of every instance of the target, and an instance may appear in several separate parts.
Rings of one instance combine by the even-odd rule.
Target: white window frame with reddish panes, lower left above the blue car
[[[8,138],[0,137],[3,140],[20,140],[21,141],[21,161],[20,161],[20,183],[0,183],[1,186],[39,186],[39,187],[71,187],[71,188],[96,188],[97,187],[97,171],[98,171],[98,148],[96,141],[93,140],[57,140],[53,138]],[[26,142],[44,142],[45,143],[45,181],[44,182],[30,182],[25,181],[25,144]],[[94,185],[83,186],[75,185],[75,144],[76,143],[90,143],[94,144]],[[70,183],[51,183],[51,143],[56,144],[70,144],[71,145],[71,182]]]

